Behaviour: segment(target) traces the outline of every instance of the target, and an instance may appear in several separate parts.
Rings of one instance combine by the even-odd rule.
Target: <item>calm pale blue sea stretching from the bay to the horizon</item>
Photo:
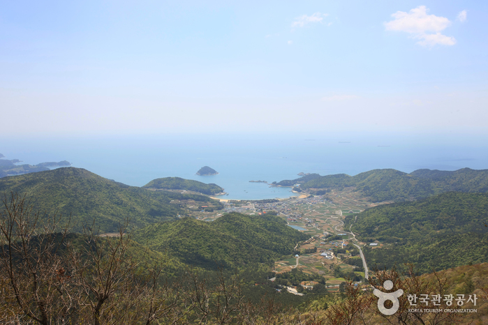
[[[178,176],[216,183],[223,199],[274,199],[291,188],[249,181],[297,179],[300,172],[355,175],[371,169],[488,169],[486,135],[294,133],[45,136],[0,139],[5,159],[68,160],[107,179],[144,186]],[[203,166],[219,174],[198,176]]]

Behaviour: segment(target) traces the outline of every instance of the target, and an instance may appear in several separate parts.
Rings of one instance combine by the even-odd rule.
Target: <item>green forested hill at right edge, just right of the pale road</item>
[[[402,267],[412,262],[422,273],[488,262],[488,194],[448,192],[422,201],[376,206],[346,217],[366,248],[369,266]]]

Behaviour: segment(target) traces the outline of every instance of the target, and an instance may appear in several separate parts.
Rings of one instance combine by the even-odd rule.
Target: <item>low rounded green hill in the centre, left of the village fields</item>
[[[138,229],[134,240],[185,264],[215,269],[266,263],[290,254],[309,236],[275,216],[229,213],[214,222],[183,218]]]

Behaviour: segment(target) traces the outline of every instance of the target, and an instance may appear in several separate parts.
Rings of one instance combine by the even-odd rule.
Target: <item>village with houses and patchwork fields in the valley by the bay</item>
[[[202,212],[202,215],[197,218],[212,221],[230,212],[251,216],[270,213],[286,220],[290,227],[310,234],[312,237],[309,241],[297,245],[295,249],[297,254],[275,262],[274,271],[283,273],[296,268],[304,273],[322,275],[327,283],[327,289],[334,292],[339,290],[341,282],[346,281],[340,275],[354,274],[356,279],[365,277],[364,267],[357,266],[362,263],[359,262],[361,257],[356,245],[362,247],[368,244],[357,241],[349,229],[343,229],[343,219],[387,202],[369,202],[367,198],[357,195],[357,192],[346,189],[333,190],[327,195],[308,195],[302,198],[222,203],[223,211]],[[355,265],[348,264],[351,261],[355,261]],[[303,282],[302,287],[313,284],[313,281]],[[288,288],[288,291],[300,294],[293,287]]]

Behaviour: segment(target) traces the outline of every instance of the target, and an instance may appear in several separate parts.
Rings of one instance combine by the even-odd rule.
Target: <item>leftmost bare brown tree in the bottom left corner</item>
[[[0,214],[2,317],[13,324],[65,324],[76,297],[59,250],[68,234],[61,216],[33,213],[10,193]]]

